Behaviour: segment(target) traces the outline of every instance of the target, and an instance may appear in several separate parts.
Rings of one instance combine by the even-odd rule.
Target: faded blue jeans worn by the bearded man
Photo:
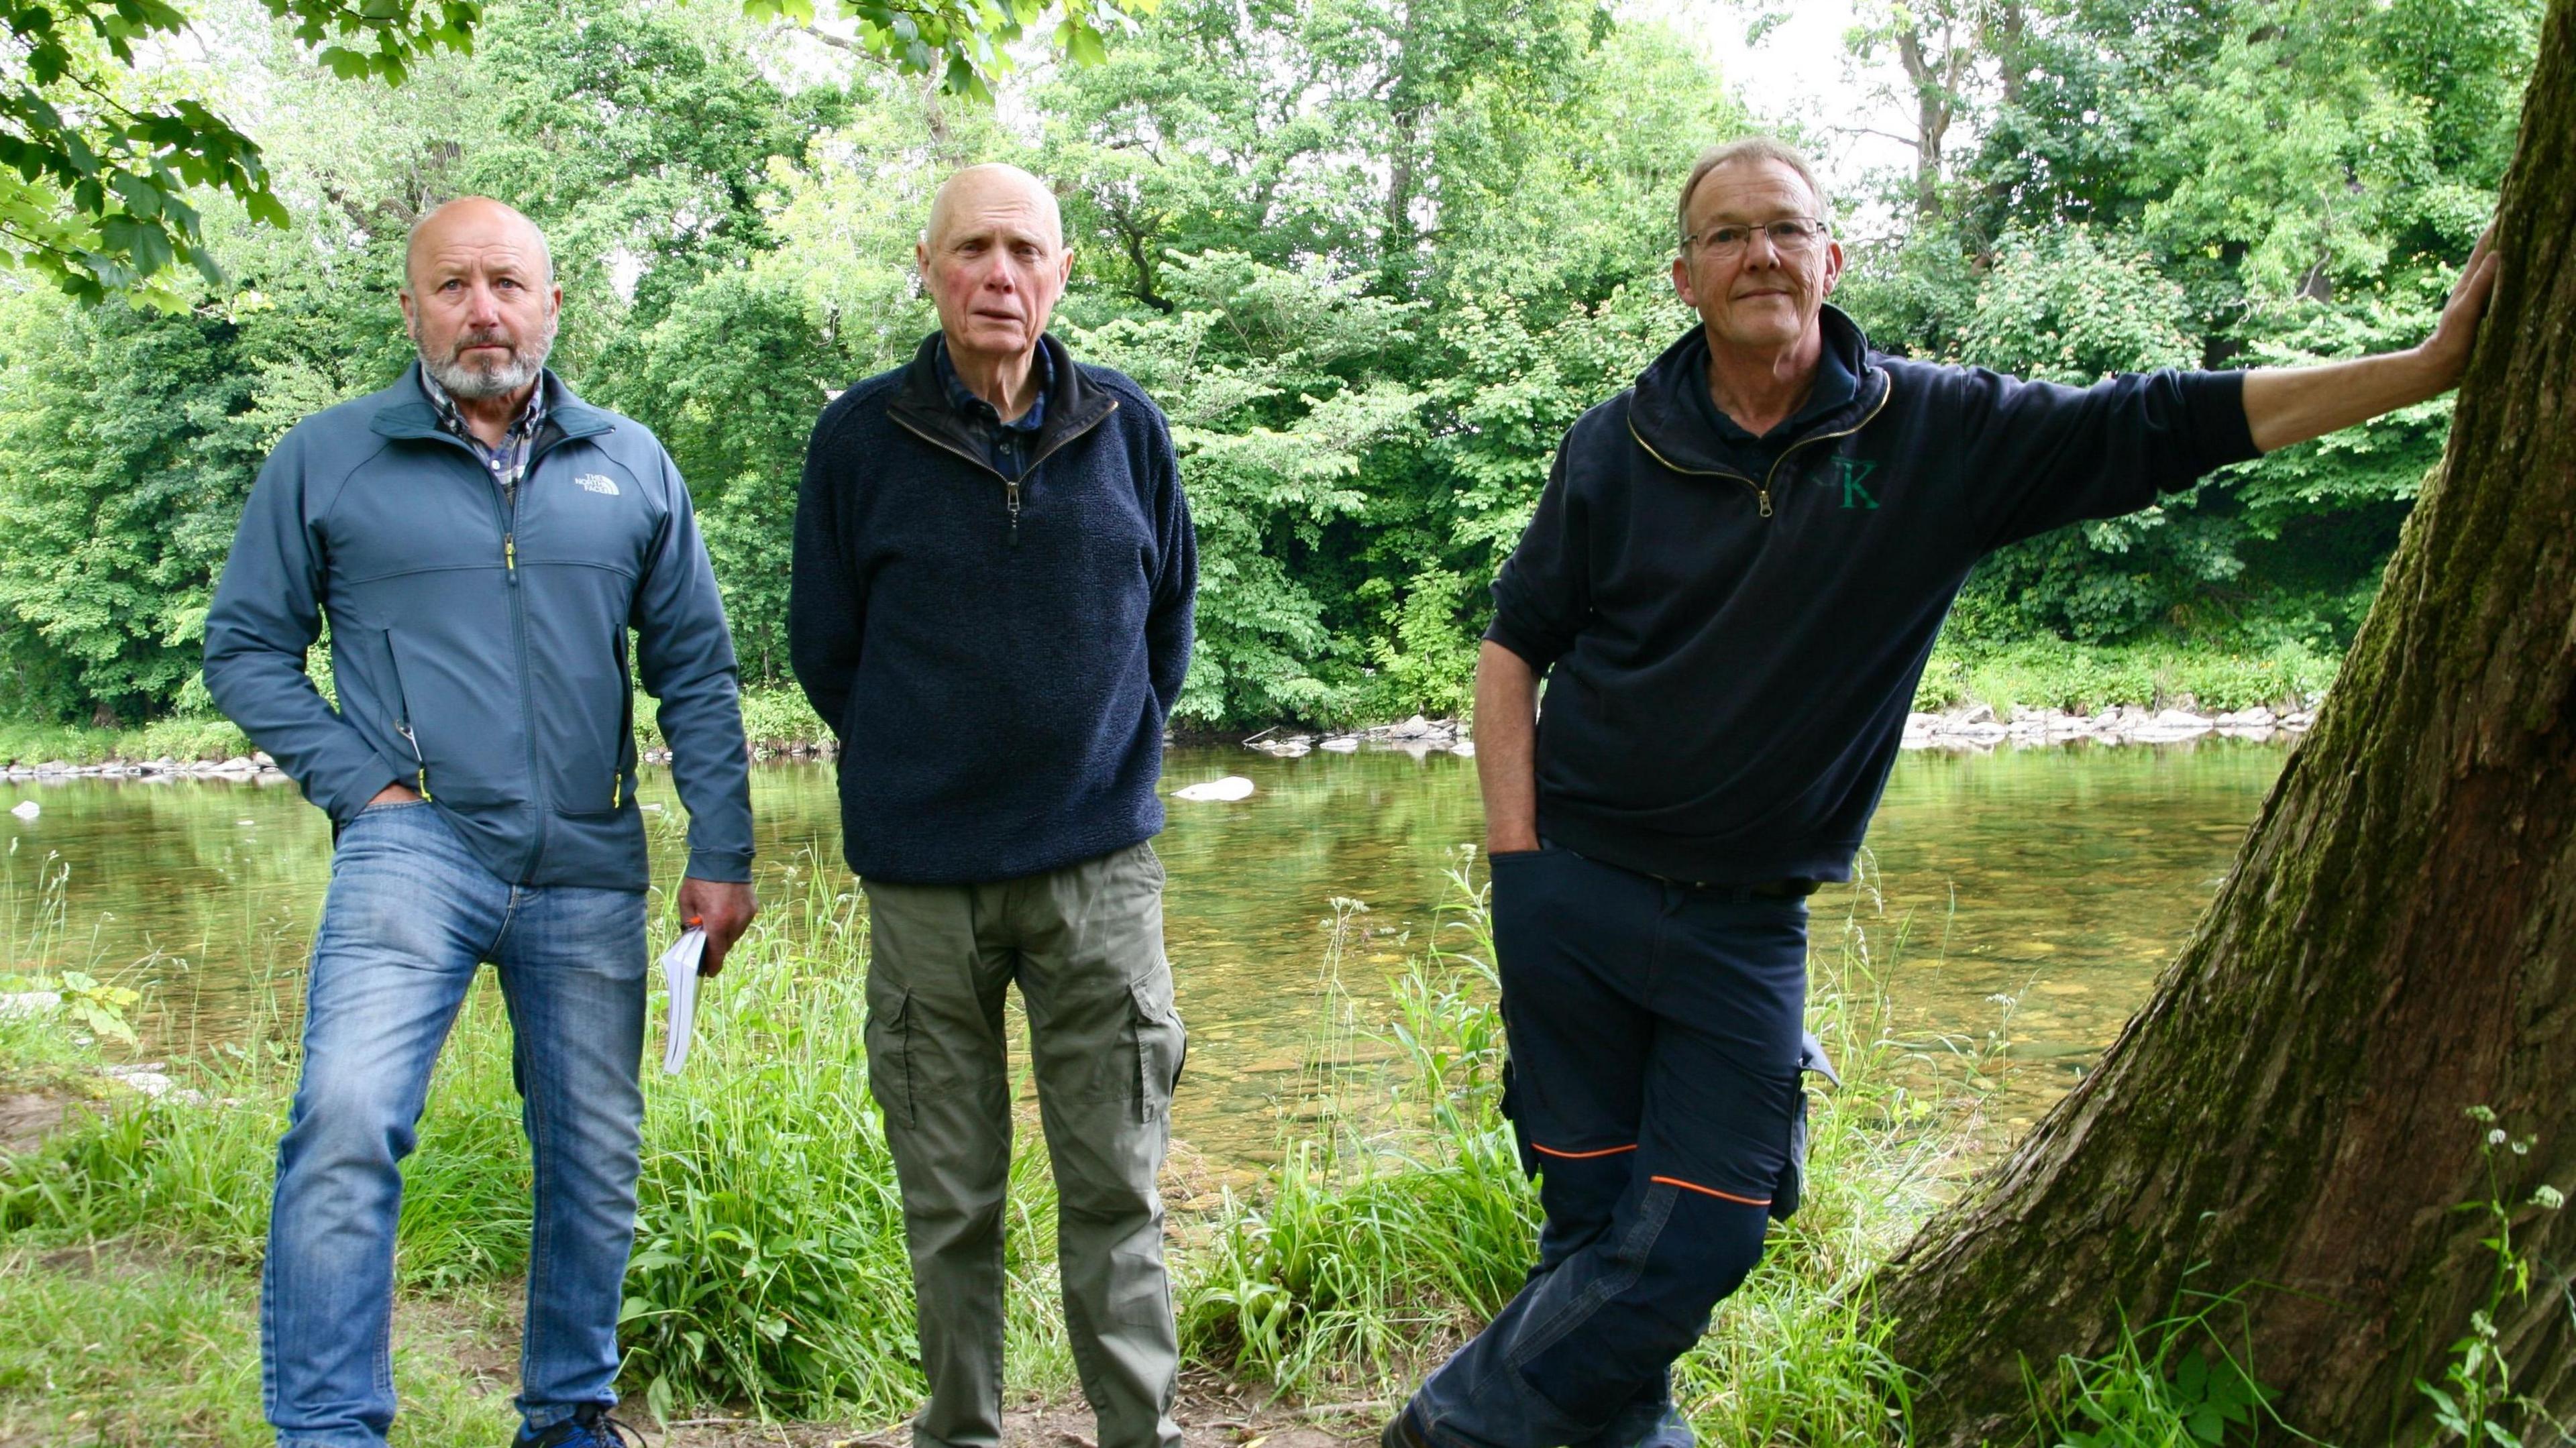
[[[644,894],[495,876],[435,804],[340,835],[260,1275],[260,1389],[281,1448],[381,1448],[394,1420],[394,1221],[430,1067],[500,966],[536,1149],[518,1407],[613,1404],[644,1092]]]

